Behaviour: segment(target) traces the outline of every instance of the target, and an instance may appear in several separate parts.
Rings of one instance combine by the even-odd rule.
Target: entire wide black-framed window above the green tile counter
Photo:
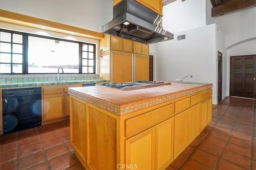
[[[0,74],[56,73],[60,66],[95,74],[96,45],[0,29]]]

